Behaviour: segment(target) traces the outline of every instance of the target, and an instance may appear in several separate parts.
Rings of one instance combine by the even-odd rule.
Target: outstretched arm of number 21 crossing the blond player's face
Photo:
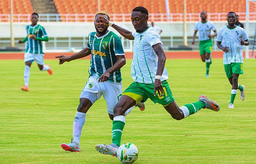
[[[110,23],[113,23],[113,22],[110,22],[107,18],[105,18],[104,16],[99,16],[99,20],[101,22],[103,22],[104,24],[108,24],[110,25]],[[112,24],[111,27],[113,27],[117,32],[119,32],[123,37],[125,37],[126,39],[129,39],[129,40],[134,40],[134,37],[133,35],[131,34],[132,32],[129,31],[129,30],[126,30],[125,28],[122,28],[116,24]]]

